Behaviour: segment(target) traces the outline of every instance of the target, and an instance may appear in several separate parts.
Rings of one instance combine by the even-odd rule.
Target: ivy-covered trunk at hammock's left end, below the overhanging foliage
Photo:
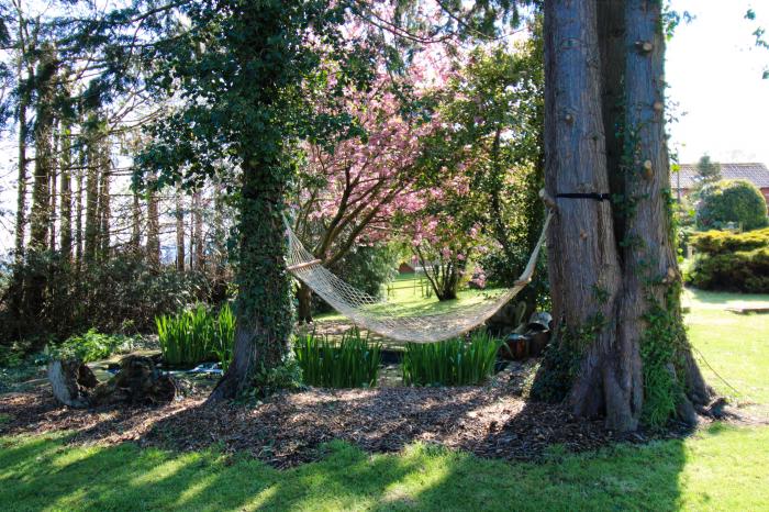
[[[210,401],[250,389],[257,372],[279,366],[288,354],[293,308],[282,220],[286,170],[279,166],[254,157],[243,164],[235,347]]]

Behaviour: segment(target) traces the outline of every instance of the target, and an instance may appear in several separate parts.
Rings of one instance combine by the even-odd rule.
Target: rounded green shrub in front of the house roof
[[[767,225],[766,200],[751,182],[742,179],[717,181],[700,191],[698,227],[723,227],[728,222],[739,223],[746,231]]]

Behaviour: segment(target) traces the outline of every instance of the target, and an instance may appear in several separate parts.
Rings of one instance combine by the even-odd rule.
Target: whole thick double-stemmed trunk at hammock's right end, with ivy
[[[620,432],[694,421],[711,396],[680,312],[662,30],[659,1],[545,3],[547,191],[613,196],[556,199],[557,336],[534,391]]]

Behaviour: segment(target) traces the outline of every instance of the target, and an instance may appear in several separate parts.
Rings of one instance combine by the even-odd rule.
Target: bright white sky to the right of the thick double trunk
[[[707,153],[715,162],[769,165],[769,49],[753,32],[769,29],[769,0],[672,0],[694,19],[668,42],[668,97],[678,122],[668,126],[680,163]],[[753,8],[757,21],[745,20]]]

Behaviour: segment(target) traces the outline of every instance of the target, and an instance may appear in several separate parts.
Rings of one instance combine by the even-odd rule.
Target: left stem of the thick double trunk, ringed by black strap
[[[548,192],[604,193],[609,177],[595,2],[553,0],[545,16]],[[615,343],[621,286],[611,205],[561,199],[554,221],[548,233],[554,316],[560,343],[581,354],[568,402],[577,414],[593,416],[605,411],[606,394],[613,392],[602,378],[605,354]]]

